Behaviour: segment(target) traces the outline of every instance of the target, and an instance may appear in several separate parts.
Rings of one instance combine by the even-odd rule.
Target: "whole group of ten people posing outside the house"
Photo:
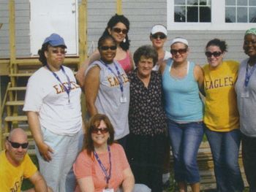
[[[133,57],[128,32],[124,15],[110,18],[97,50],[76,78],[63,66],[64,39],[59,34],[45,39],[38,52],[43,66],[29,78],[23,108],[42,175],[32,165],[18,168],[31,161],[26,134],[14,129],[0,159],[13,166],[12,174],[21,171],[4,183],[7,191],[19,191],[24,177],[36,191],[162,192],[170,175],[171,147],[178,191],[190,185],[197,192],[197,151],[204,133],[217,191],[244,190],[238,164],[241,140],[249,190],[256,191],[256,28],[246,31],[243,48],[249,58],[240,65],[224,61],[225,41],[211,39],[203,68],[187,60],[187,39],[176,37],[170,52],[164,50],[165,26],[153,26],[152,45],[139,47]],[[82,91],[86,123],[80,110]],[[0,180],[2,170],[7,172],[1,164]]]

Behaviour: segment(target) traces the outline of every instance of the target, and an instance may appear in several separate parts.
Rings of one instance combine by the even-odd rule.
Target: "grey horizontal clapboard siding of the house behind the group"
[[[80,1],[79,1],[80,2]],[[97,40],[105,30],[109,18],[116,12],[116,0],[88,0],[88,45],[90,52],[92,44],[97,47]],[[140,45],[151,44],[149,34],[154,24],[161,23],[167,26],[167,0],[123,0],[124,15],[129,18],[131,40],[130,50],[134,52]],[[0,0],[0,23],[4,26],[0,30],[0,57],[9,56],[8,34],[8,0]],[[29,0],[15,1],[16,14],[16,47],[18,56],[29,56]],[[206,63],[203,54],[208,40],[215,37],[225,39],[228,45],[227,59],[241,61],[246,58],[242,50],[244,31],[168,31],[168,40],[165,44],[169,50],[170,40],[174,37],[184,37],[189,41],[191,53],[189,59],[198,64]]]

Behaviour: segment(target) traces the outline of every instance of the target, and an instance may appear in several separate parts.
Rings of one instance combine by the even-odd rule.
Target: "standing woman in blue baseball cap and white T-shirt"
[[[71,69],[63,66],[67,46],[51,34],[38,51],[42,67],[30,78],[23,111],[36,143],[40,172],[53,191],[74,191],[68,174],[82,138],[80,86]],[[73,188],[74,187],[74,188]]]

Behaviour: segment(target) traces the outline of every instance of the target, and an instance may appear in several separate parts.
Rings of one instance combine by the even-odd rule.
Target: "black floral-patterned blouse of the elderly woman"
[[[151,72],[148,88],[137,76],[137,69],[129,74],[129,131],[135,135],[154,136],[167,130],[162,106],[162,77]]]

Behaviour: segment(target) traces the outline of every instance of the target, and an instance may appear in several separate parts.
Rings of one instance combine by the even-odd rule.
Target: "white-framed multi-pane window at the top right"
[[[167,0],[168,30],[245,30],[255,23],[256,0]]]

